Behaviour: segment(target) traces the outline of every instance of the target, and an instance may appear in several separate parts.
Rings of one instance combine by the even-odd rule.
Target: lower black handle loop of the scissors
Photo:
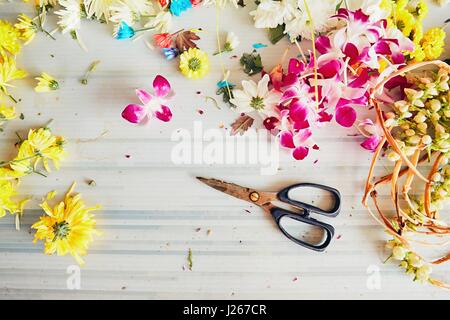
[[[281,208],[273,208],[271,211],[273,218],[275,219],[278,227],[280,228],[281,232],[283,232],[283,234],[289,238],[291,241],[295,242],[298,245],[301,245],[302,247],[308,248],[310,250],[314,250],[314,251],[324,251],[328,245],[330,244],[331,240],[333,239],[334,236],[334,228],[333,226],[321,222],[321,221],[317,221],[316,219],[313,219],[307,215],[302,215],[302,214],[298,214],[298,213],[294,213],[285,209],[281,209]],[[280,223],[280,220],[283,218],[291,218],[294,220],[297,220],[301,223],[306,223],[312,226],[316,226],[321,228],[324,233],[325,233],[325,240],[323,240],[321,243],[319,244],[312,244],[312,243],[308,243],[306,241],[300,240],[294,236],[292,236],[288,231],[286,231],[282,224]]]

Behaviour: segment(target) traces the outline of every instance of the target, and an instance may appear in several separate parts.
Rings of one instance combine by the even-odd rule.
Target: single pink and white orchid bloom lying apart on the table
[[[142,105],[129,104],[122,112],[122,118],[131,123],[141,123],[149,116],[155,116],[161,121],[168,122],[172,119],[172,111],[166,106],[166,101],[171,91],[170,83],[161,75],[153,80],[155,94],[142,89],[136,89],[136,95]]]

